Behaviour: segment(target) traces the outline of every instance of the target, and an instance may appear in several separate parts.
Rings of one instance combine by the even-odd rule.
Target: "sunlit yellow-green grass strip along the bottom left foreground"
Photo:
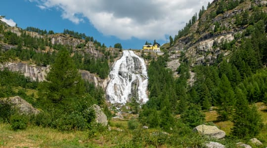
[[[97,132],[91,138],[88,131],[61,132],[38,126],[13,131],[9,124],[0,123],[0,148],[110,148],[132,139],[127,123],[126,120],[112,120],[111,131]]]

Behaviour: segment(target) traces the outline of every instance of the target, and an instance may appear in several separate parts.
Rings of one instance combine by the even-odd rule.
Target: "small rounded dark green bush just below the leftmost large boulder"
[[[13,114],[10,117],[10,124],[13,130],[23,130],[27,128],[29,119],[26,115],[23,114]]]

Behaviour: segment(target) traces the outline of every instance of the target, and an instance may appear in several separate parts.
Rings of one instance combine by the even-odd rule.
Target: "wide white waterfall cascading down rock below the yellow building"
[[[131,98],[141,104],[148,101],[146,65],[133,51],[123,51],[123,56],[113,65],[109,76],[111,80],[106,88],[106,96],[110,103],[125,104]]]

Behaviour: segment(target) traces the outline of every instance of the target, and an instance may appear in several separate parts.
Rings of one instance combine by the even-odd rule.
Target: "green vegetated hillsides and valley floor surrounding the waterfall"
[[[149,101],[126,104],[121,118],[112,118],[117,112],[106,103],[104,90],[78,73],[83,69],[105,78],[119,49],[69,30],[53,34],[0,22],[0,63],[50,66],[42,82],[1,69],[0,98],[20,96],[41,113],[19,114],[0,100],[0,147],[205,148],[218,142],[237,148],[242,142],[266,148],[266,4],[214,0],[164,46],[163,56],[141,52],[149,61]],[[58,37],[65,41],[58,42]],[[180,63],[175,72],[168,69],[172,60]],[[104,110],[109,126],[95,122],[93,104]],[[215,125],[226,136],[193,132],[201,124]],[[263,145],[253,144],[251,138]]]

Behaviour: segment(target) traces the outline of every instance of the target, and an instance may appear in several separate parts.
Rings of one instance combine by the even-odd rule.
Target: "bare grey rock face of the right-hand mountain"
[[[170,47],[169,54],[171,60],[180,57],[180,53],[185,53],[185,58],[190,59],[193,65],[211,65],[218,55],[227,56],[230,51],[222,50],[223,42],[230,42],[236,38],[235,35],[242,34],[248,25],[237,25],[236,16],[242,16],[245,11],[252,15],[252,6],[261,4],[262,11],[267,12],[267,0],[244,0],[235,8],[216,14],[220,1],[214,0],[199,20],[191,27],[189,34],[178,38],[174,45]],[[228,0],[224,1],[226,4]],[[215,16],[213,16],[215,15]],[[218,29],[219,28],[219,29]]]

